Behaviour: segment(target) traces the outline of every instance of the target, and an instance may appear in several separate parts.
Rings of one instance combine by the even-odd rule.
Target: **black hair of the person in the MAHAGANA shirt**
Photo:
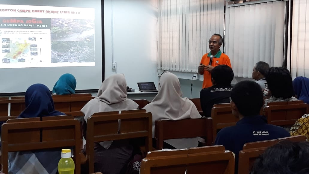
[[[211,78],[214,79],[216,85],[230,86],[234,78],[234,72],[227,65],[219,65],[211,71]]]

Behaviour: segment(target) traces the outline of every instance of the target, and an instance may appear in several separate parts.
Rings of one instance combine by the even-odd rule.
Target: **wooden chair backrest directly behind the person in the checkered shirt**
[[[269,103],[265,107],[267,121],[272,125],[294,125],[295,121],[309,113],[309,105],[302,100]]]

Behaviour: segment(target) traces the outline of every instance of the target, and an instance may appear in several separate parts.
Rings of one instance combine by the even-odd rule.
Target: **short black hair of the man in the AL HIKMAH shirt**
[[[231,92],[231,99],[238,112],[243,116],[259,115],[264,105],[263,92],[259,84],[244,80],[235,85]]]

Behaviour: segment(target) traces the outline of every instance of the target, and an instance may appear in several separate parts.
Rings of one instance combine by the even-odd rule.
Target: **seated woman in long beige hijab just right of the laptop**
[[[165,72],[159,79],[159,92],[144,109],[152,113],[152,137],[155,135],[156,120],[182,120],[201,118],[195,105],[188,98],[182,98],[179,79],[176,75]],[[194,129],[194,127],[192,128]],[[172,130],[171,130],[172,131]],[[165,149],[183,149],[197,147],[197,138],[164,140]]]

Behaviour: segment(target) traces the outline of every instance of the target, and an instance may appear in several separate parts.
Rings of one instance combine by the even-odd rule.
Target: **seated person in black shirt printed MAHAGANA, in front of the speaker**
[[[204,88],[200,92],[201,107],[206,117],[211,117],[211,108],[214,104],[230,103],[233,78],[233,70],[227,65],[216,66],[211,71],[213,86]]]

